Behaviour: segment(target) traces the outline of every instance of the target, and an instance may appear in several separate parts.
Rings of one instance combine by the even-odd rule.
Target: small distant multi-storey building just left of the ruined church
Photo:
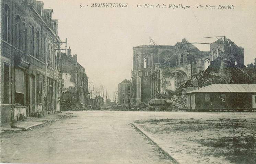
[[[118,85],[118,101],[119,104],[131,104],[132,88],[131,82],[127,79]]]

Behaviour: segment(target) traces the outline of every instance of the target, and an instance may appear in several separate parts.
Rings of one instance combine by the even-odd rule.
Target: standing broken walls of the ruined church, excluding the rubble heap
[[[133,47],[132,102],[148,102],[157,93],[174,91],[193,74],[206,70],[217,57],[232,56],[244,67],[244,48],[226,37],[209,43],[210,51],[200,51],[185,38],[174,46],[141,45]]]

